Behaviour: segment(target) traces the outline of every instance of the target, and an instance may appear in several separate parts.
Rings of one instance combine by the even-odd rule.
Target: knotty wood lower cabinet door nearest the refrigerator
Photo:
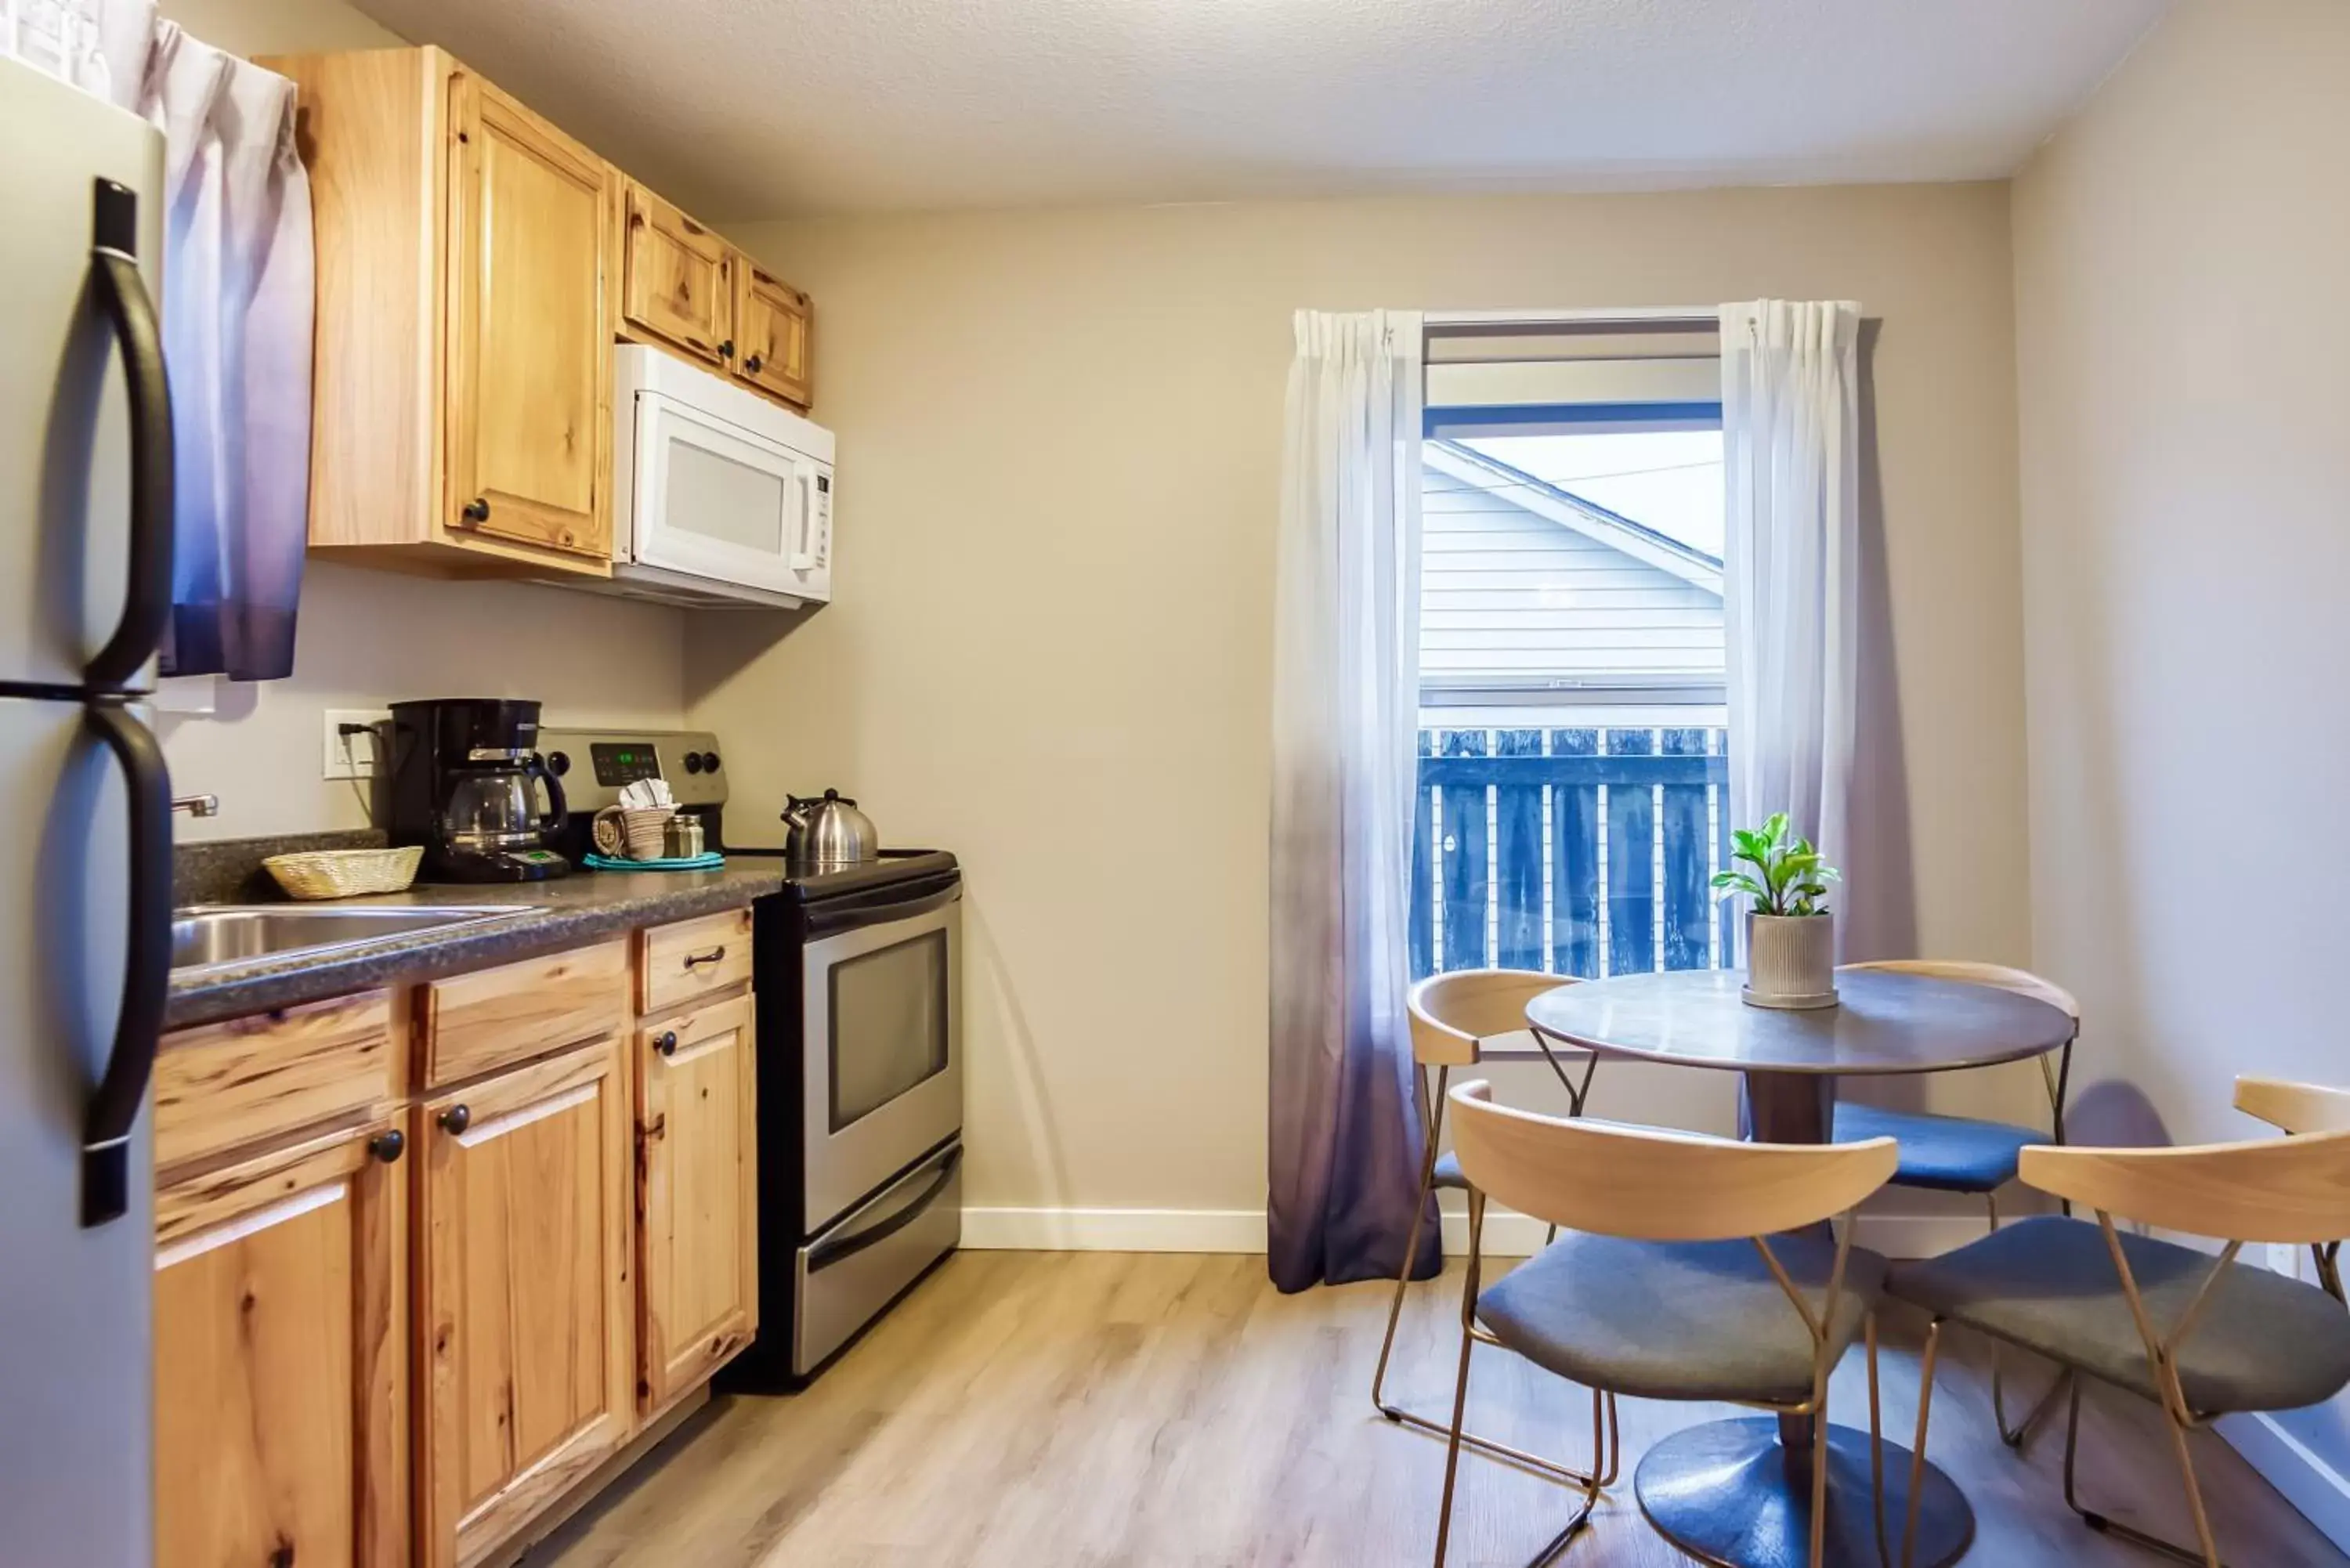
[[[407,1182],[390,1121],[155,1194],[155,1561],[404,1568]]]

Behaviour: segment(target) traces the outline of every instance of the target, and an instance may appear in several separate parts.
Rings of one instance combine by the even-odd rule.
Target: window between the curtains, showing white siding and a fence
[[[1716,969],[1711,322],[1429,341],[1412,969]]]

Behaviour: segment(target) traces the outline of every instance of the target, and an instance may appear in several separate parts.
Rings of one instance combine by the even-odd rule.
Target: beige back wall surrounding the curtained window
[[[2021,604],[2002,186],[1267,202],[754,226],[818,303],[839,602],[689,625],[745,771],[971,867],[975,1206],[1264,1201],[1271,567],[1297,306],[1859,299],[1892,639],[1880,945],[2021,961]],[[1880,597],[1887,597],[1880,595]],[[1882,614],[1882,611],[1880,611]],[[1911,931],[1913,938],[1911,938]],[[1624,1114],[1720,1126],[1727,1084]],[[1993,1095],[1986,1086],[1950,1093]],[[2028,1100],[2023,1103],[2028,1112]]]

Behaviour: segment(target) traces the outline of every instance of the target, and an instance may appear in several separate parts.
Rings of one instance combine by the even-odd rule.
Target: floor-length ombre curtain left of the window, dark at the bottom
[[[1412,310],[1297,313],[1274,604],[1267,1220],[1283,1291],[1391,1276],[1419,1190],[1403,1013],[1419,327]]]

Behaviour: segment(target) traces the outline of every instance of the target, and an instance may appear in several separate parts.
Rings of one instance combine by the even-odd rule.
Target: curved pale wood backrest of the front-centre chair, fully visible
[[[1495,1105],[1452,1091],[1452,1150],[1469,1182],[1518,1213],[1605,1237],[1730,1241],[1833,1220],[1882,1187],[1901,1154],[1868,1143],[1732,1143]]]

